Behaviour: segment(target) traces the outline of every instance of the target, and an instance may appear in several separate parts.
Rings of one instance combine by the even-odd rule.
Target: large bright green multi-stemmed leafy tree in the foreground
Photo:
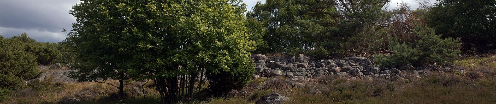
[[[204,75],[231,70],[233,73],[246,70],[252,75],[252,66],[243,67],[248,69],[235,67],[236,63],[250,62],[247,60],[249,51],[254,49],[242,14],[246,5],[240,2],[149,1],[146,8],[156,10],[148,13],[147,20],[154,24],[137,28],[139,32],[136,33],[144,36],[135,37],[140,39],[133,56],[137,59],[133,66],[139,66],[135,72],[145,73],[144,77],[153,79],[166,102],[194,99],[194,88],[202,88],[204,81],[196,79]],[[240,81],[245,81],[243,79]],[[196,82],[198,84],[194,84]]]

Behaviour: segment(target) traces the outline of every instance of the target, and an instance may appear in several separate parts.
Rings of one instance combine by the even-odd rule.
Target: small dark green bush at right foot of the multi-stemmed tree
[[[248,59],[240,59],[229,71],[208,72],[209,89],[222,95],[246,86],[255,72],[253,63],[246,60]]]

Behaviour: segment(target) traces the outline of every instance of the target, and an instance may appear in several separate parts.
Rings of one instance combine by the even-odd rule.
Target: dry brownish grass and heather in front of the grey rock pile
[[[253,104],[263,95],[279,93],[291,98],[286,104],[494,104],[496,103],[496,56],[466,58],[455,62],[465,73],[432,73],[422,79],[349,80],[338,76],[316,79],[304,88],[256,88],[245,95],[217,98],[209,104]],[[281,82],[287,79],[279,78]],[[254,80],[250,83],[271,82]],[[272,85],[279,85],[272,82]],[[236,92],[236,91],[234,91]]]

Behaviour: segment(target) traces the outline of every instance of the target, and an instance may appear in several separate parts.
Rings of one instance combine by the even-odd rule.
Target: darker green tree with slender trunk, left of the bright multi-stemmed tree
[[[127,8],[126,4],[136,7]],[[133,14],[133,9],[143,11],[141,1],[124,2],[123,0],[82,0],[74,5],[70,11],[76,17],[72,24],[72,31],[67,33],[62,41],[64,47],[72,49],[73,63],[70,77],[79,81],[94,81],[100,83],[107,79],[119,81],[119,85],[112,86],[119,89],[120,99],[124,98],[124,81],[131,78],[127,74],[130,67],[127,63],[132,60],[132,51],[135,42],[134,31],[145,25],[131,16],[145,17],[144,14]],[[141,26],[141,27],[139,27]],[[150,27],[147,27],[150,28]]]

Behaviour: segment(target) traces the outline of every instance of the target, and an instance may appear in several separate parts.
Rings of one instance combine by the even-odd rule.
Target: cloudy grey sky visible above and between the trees
[[[257,0],[244,0],[251,10]],[[417,0],[391,0],[388,8],[396,2],[408,2],[417,8]],[[434,0],[430,0],[434,2]],[[10,38],[22,33],[38,42],[61,42],[65,38],[62,29],[70,31],[76,18],[69,14],[72,5],[79,0],[0,0],[0,35]],[[265,3],[262,0],[261,3]]]

